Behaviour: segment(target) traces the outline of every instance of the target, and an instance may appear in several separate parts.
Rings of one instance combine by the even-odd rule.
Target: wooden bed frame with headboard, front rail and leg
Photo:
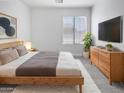
[[[7,43],[0,43],[0,49],[12,48],[18,45],[23,45],[23,41],[11,41]],[[84,78],[83,76],[0,76],[0,84],[79,85],[79,93],[82,93],[82,85],[84,84]]]

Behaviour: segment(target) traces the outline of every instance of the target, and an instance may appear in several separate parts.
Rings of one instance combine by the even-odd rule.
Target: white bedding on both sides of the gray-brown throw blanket
[[[0,76],[14,77],[16,76],[16,69],[38,52],[29,52],[28,54],[8,63],[0,65]],[[56,75],[81,75],[78,63],[69,52],[60,52],[58,60]]]

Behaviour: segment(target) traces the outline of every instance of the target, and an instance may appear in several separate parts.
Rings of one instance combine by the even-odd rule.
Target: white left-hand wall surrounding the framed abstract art
[[[31,40],[31,10],[27,5],[20,0],[2,0],[0,12],[17,18],[18,39]]]

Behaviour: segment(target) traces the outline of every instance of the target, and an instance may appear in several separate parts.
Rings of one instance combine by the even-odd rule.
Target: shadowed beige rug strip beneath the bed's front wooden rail
[[[79,93],[75,86],[34,86],[22,85],[12,93]]]

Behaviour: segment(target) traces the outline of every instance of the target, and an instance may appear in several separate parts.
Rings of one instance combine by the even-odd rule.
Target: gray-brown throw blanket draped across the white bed
[[[58,53],[40,52],[16,69],[16,76],[56,76]]]

